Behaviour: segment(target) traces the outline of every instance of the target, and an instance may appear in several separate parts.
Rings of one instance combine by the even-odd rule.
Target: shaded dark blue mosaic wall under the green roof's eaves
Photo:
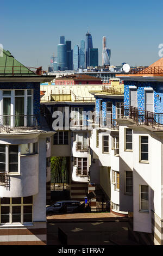
[[[0,89],[33,89],[34,115],[40,114],[40,83],[0,83]]]

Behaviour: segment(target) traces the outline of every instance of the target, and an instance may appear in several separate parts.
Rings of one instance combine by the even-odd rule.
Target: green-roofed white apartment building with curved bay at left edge
[[[46,131],[40,82],[9,51],[0,58],[0,245],[46,245]]]

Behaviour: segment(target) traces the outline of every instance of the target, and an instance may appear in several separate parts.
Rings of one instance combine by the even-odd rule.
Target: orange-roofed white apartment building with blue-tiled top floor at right
[[[124,80],[120,136],[120,210],[133,215],[135,239],[162,245],[161,58],[147,68],[118,75]]]

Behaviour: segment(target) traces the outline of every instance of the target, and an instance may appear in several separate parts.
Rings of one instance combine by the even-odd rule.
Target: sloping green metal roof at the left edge
[[[9,51],[0,57],[0,76],[37,76],[35,72],[18,62]]]

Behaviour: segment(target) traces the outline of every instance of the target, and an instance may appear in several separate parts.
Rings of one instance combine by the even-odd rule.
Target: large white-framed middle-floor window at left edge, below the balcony
[[[18,145],[0,144],[0,173],[18,172]]]

